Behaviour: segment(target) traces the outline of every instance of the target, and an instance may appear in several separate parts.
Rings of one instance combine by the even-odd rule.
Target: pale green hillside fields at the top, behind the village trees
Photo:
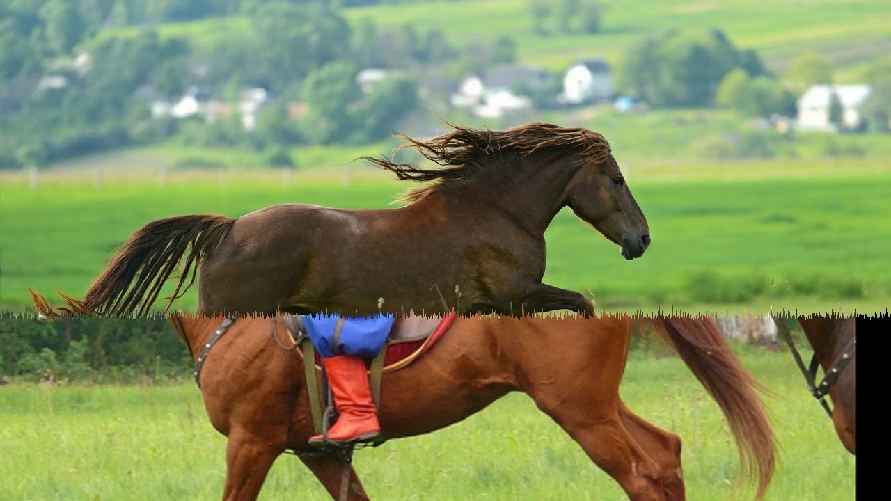
[[[491,41],[508,35],[517,43],[520,62],[566,70],[581,58],[603,57],[619,62],[634,40],[665,29],[724,29],[734,44],[756,49],[774,69],[806,49],[819,50],[839,66],[868,60],[891,49],[891,12],[882,0],[797,0],[751,4],[746,0],[625,0],[603,2],[602,31],[594,36],[556,32],[556,7],[546,26],[551,35],[533,31],[527,0],[473,0],[382,4],[344,9],[355,27],[371,20],[381,28],[404,24],[437,28],[453,43]],[[247,18],[235,16],[192,22],[163,23],[155,27],[162,36],[186,37],[200,49],[209,49],[225,38],[249,33]],[[133,35],[138,28],[104,29],[97,39]]]

